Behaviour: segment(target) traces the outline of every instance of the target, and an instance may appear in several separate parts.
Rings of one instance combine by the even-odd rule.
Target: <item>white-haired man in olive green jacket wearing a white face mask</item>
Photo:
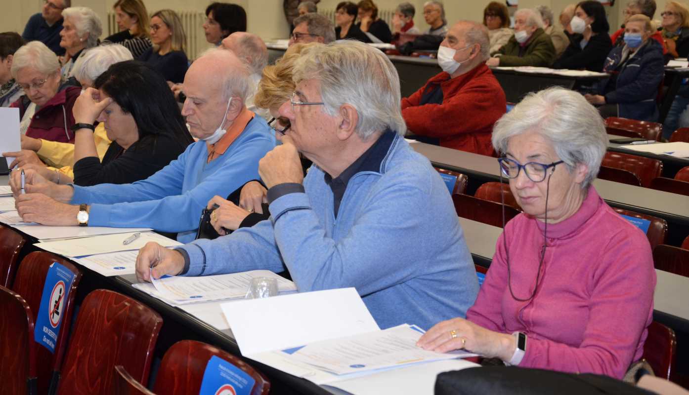
[[[531,8],[515,12],[515,35],[492,55],[486,65],[550,67],[555,47],[543,30],[541,14]]]

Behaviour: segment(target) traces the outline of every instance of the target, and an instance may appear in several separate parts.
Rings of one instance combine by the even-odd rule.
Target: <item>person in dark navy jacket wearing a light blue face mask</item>
[[[586,94],[586,100],[600,105],[604,118],[621,116],[655,122],[655,97],[664,75],[663,49],[650,39],[655,29],[646,15],[633,15],[624,29],[624,47],[613,48],[603,67],[610,78],[599,84],[599,94]]]

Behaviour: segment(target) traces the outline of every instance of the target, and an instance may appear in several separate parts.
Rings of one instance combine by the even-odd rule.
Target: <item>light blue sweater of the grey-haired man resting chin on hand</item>
[[[431,328],[464,317],[478,292],[447,187],[428,159],[395,135],[378,171],[347,183],[337,219],[333,191],[311,167],[305,193],[270,204],[271,218],[183,246],[185,275],[289,270],[301,292],[356,287],[381,328]]]

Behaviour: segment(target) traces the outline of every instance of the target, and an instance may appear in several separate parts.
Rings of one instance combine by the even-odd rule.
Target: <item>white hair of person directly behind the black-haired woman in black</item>
[[[107,44],[86,50],[82,56],[76,59],[72,67],[71,76],[83,83],[93,83],[101,74],[114,63],[131,61],[134,59],[132,52],[120,44]]]

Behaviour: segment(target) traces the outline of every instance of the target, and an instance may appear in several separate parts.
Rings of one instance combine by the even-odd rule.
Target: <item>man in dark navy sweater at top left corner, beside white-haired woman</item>
[[[62,30],[62,10],[72,6],[72,0],[44,0],[43,9],[33,14],[21,34],[24,41],[41,41],[55,52],[57,56],[65,54],[60,47],[60,30]]]

